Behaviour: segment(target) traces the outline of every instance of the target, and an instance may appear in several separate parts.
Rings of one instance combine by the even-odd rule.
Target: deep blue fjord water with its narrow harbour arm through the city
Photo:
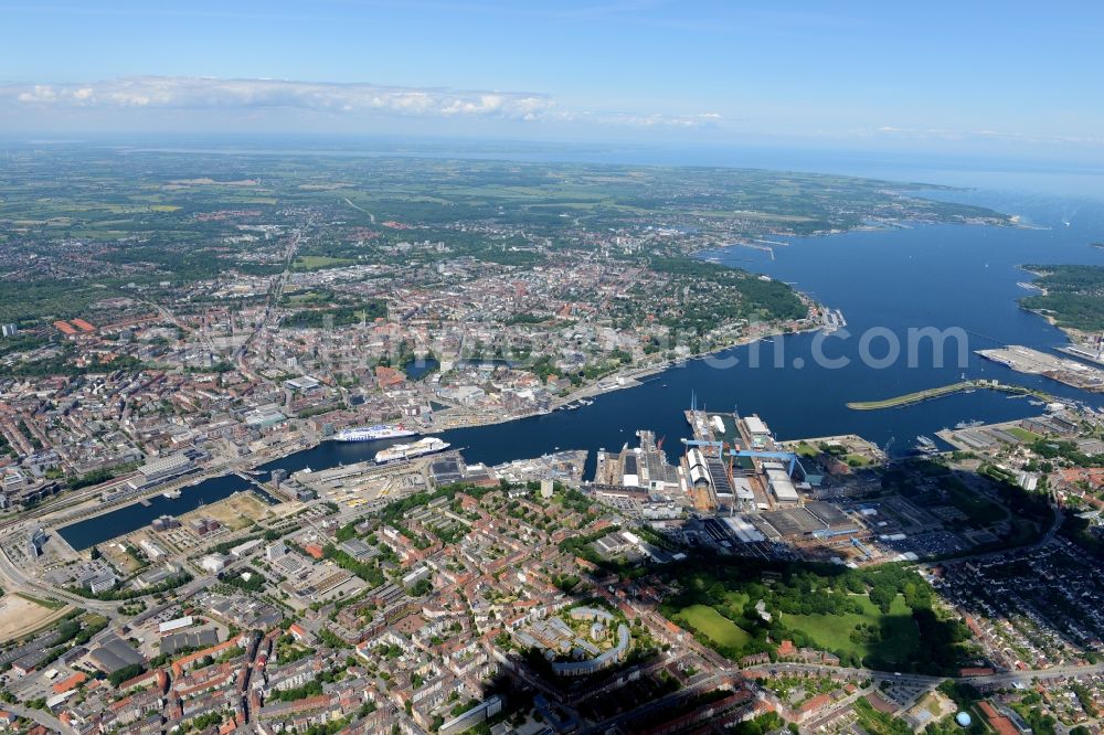
[[[593,405],[577,411],[455,429],[440,436],[461,448],[469,462],[497,464],[556,448],[616,449],[634,441],[633,433],[640,428],[667,437],[666,446],[677,451],[678,439],[688,435],[682,411],[689,406],[691,395],[696,395],[699,406],[757,413],[781,439],[853,433],[888,445],[891,454],[903,454],[917,435],[933,434],[959,420],[1010,420],[1039,413],[1025,398],[986,391],[889,411],[856,412],[845,405],[849,401],[890,397],[944,385],[957,381],[963,372],[969,377],[995,377],[1102,405],[1098,395],[1015,373],[973,351],[1001,344],[1049,350],[1064,343],[1058,329],[1017,306],[1017,299],[1028,294],[1017,284],[1031,280],[1018,266],[1104,265],[1104,251],[1089,247],[1089,243],[1104,239],[1104,202],[991,190],[932,195],[1020,214],[1038,228],[920,225],[830,237],[785,238],[789,244],[775,248],[774,259],[743,247],[702,254],[794,284],[817,300],[840,309],[852,337],[845,339],[840,332],[825,339],[821,349],[829,358],[848,359],[850,364],[846,368],[817,365],[816,335],[789,334],[728,350],[715,359],[690,361],[639,387],[598,396]],[[904,358],[887,369],[864,365],[859,359],[860,335],[869,329],[888,329],[904,347],[910,328],[926,327],[966,330],[969,353],[965,370],[957,366],[953,349],[946,366],[934,366],[927,342],[923,343],[926,349],[917,351],[919,364],[913,368]],[[874,356],[883,355],[884,350],[884,340],[874,340],[870,348]],[[760,366],[752,366],[755,351]],[[719,368],[718,363],[733,364]],[[386,444],[328,441],[259,469],[268,472],[276,468],[296,471],[305,467],[335,467],[339,462],[370,459]],[[74,548],[87,548],[146,525],[162,513],[180,514],[194,510],[201,502],[211,503],[247,488],[244,480],[234,476],[214,478],[185,488],[179,500],[156,498],[149,507],[128,505],[66,526],[61,534]]]

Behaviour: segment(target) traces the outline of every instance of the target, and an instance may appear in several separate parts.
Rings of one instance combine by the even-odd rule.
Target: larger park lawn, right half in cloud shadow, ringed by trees
[[[920,633],[912,620],[912,611],[898,595],[890,606],[889,615],[870,601],[866,595],[856,599],[863,607],[863,615],[785,615],[783,622],[788,628],[802,630],[817,646],[829,651],[846,651],[860,657],[874,656],[888,663],[904,662],[909,654],[920,647]],[[857,643],[851,640],[851,631],[860,622],[877,622],[882,626],[882,639],[877,643]]]

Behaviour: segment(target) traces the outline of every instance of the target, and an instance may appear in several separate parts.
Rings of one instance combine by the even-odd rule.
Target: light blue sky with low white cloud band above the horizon
[[[0,0],[0,128],[1104,160],[1100,2]]]

